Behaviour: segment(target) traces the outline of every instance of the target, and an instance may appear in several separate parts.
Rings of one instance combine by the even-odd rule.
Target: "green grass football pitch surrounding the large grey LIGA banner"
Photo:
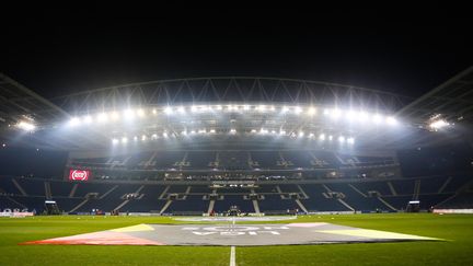
[[[173,245],[23,245],[84,233],[176,224],[197,229],[226,227],[222,221],[186,221],[173,217],[0,218],[0,265],[473,265],[473,216],[377,213],[303,216],[293,224],[322,224],[420,235],[442,241],[338,243],[261,246]],[[240,221],[236,229],[278,228],[287,220]],[[261,225],[257,225],[261,224]],[[146,225],[149,227],[149,225]],[[178,228],[178,227],[176,227]],[[123,230],[123,229],[122,229]],[[166,229],[168,230],[168,229]],[[166,232],[166,231],[163,231]],[[199,231],[197,231],[199,232]],[[253,232],[253,231],[252,231]],[[215,232],[206,232],[207,234]],[[173,234],[173,233],[168,233]],[[146,236],[146,233],[143,233]],[[264,238],[265,234],[261,234]],[[259,236],[259,235],[258,235]],[[184,236],[181,236],[181,240]],[[182,240],[185,241],[185,240]],[[231,254],[233,251],[233,254]]]

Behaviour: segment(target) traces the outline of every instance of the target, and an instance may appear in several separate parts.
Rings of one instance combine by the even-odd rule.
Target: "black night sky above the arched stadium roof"
[[[0,71],[46,97],[214,76],[322,80],[418,96],[473,65],[468,15],[438,8],[425,19],[417,11],[385,16],[376,9],[41,10],[2,21]]]

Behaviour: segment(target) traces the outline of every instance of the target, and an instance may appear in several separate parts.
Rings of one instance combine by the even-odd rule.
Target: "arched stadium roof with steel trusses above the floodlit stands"
[[[116,113],[130,108],[139,108],[139,112],[150,114],[151,112],[153,114],[160,112],[168,115],[163,116],[162,119],[135,125],[132,131],[135,136],[152,137],[160,134],[160,137],[166,138],[170,134],[170,136],[178,137],[180,134],[187,134],[187,130],[189,132],[192,130],[205,132],[212,130],[212,132],[226,134],[231,134],[233,130],[233,132],[244,132],[246,136],[250,132],[256,132],[256,130],[276,132],[275,129],[278,129],[278,132],[284,131],[285,134],[288,130],[287,135],[292,137],[312,135],[322,138],[322,135],[325,137],[325,135],[332,134],[334,138],[338,138],[338,136],[344,139],[355,137],[359,149],[412,148],[458,140],[462,134],[451,130],[449,134],[430,132],[432,128],[429,128],[429,124],[441,118],[442,123],[463,124],[470,127],[473,113],[473,67],[417,100],[335,83],[253,77],[141,82],[82,91],[47,100],[4,74],[0,74],[0,78],[2,137],[12,146],[60,150],[90,150],[108,147],[112,138],[123,138],[129,128],[125,130],[115,124],[107,126],[106,130],[103,127],[88,126],[85,130],[88,134],[84,134],[84,130],[65,132],[61,128],[71,118],[76,122],[81,117],[86,119],[88,116],[109,115],[111,112]],[[219,112],[216,109],[218,105],[228,106],[229,111],[227,113]],[[191,114],[191,109],[194,112],[194,106],[196,106],[195,108],[199,108],[198,106],[214,108],[214,115],[216,113],[220,116],[224,115],[224,123],[216,123],[215,117],[200,113],[187,115],[180,119],[170,119],[169,117],[168,113],[172,109],[186,108]],[[338,108],[345,109],[347,115],[351,109],[360,111],[356,114],[368,111],[373,117],[377,114],[385,114],[385,117],[395,114],[396,119],[406,127],[402,131],[392,130],[389,127],[383,130],[379,130],[378,127],[374,131],[365,130],[366,128],[362,127],[360,130],[353,130],[351,127],[343,123],[328,125],[296,116],[288,117],[276,113],[261,112],[259,106],[280,112],[286,108],[295,112],[298,108],[301,109],[300,112],[316,108],[319,114],[328,112],[327,108],[333,112],[338,112]],[[236,111],[232,111],[233,107]],[[251,115],[241,115],[238,108],[247,108],[254,112]],[[184,118],[187,120],[184,122]],[[97,119],[101,118],[97,117]],[[235,120],[241,123],[233,124]],[[18,130],[11,130],[16,128],[14,125],[19,125],[19,123],[28,125],[28,122],[36,127],[34,134],[19,135]],[[282,128],[285,129],[282,130]],[[249,139],[236,138],[234,140],[244,142]],[[181,144],[183,143],[185,141],[181,142]],[[222,147],[229,144],[229,139],[214,138],[209,141],[200,140],[199,143],[199,148],[203,146]],[[252,139],[249,143],[261,144],[261,140]],[[161,148],[165,149],[166,147],[162,146]]]

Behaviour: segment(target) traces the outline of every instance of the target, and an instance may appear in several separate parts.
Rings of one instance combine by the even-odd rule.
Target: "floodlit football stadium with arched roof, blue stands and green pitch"
[[[471,265],[473,67],[45,97],[0,74],[1,265]]]

